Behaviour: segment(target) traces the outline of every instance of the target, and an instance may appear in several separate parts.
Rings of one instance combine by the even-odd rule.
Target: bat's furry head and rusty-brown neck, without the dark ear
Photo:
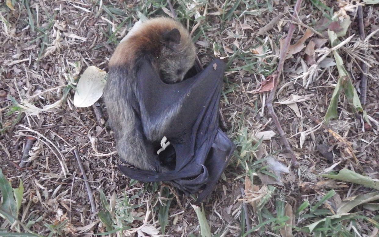
[[[179,44],[165,42],[164,33],[177,29]],[[142,55],[153,59],[153,66],[162,72],[163,81],[168,83],[183,80],[193,66],[195,49],[188,31],[182,24],[168,17],[158,17],[142,23],[137,33],[121,42],[112,55],[109,66],[126,66],[131,69]],[[180,73],[177,73],[180,70]]]

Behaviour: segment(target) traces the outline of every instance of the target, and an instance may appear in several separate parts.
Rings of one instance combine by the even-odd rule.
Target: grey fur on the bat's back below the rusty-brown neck
[[[143,170],[156,170],[156,157],[147,157],[153,154],[144,143],[146,137],[141,134],[137,126],[141,124],[136,118],[132,102],[135,98],[135,75],[120,67],[109,70],[108,81],[104,88],[104,101],[108,111],[108,123],[116,138],[116,148],[119,156],[125,162]],[[150,152],[148,152],[150,151]]]

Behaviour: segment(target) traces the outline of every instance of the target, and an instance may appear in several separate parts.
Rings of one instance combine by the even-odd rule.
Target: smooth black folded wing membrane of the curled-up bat
[[[218,127],[224,70],[225,64],[215,59],[193,77],[166,84],[149,61],[141,62],[135,97],[144,133],[163,126],[176,163],[174,170],[164,173],[119,165],[126,176],[143,182],[169,181],[186,194],[203,190],[197,202],[213,190],[235,148]],[[165,118],[172,118],[171,123],[165,124]]]

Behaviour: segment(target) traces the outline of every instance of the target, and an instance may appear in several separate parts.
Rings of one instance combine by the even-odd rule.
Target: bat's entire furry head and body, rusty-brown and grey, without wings
[[[172,40],[166,37],[174,29],[179,30],[179,41],[175,38],[177,34]],[[141,121],[143,118],[135,97],[138,94],[136,70],[138,60],[146,56],[160,72],[164,82],[174,83],[183,80],[193,66],[196,55],[186,29],[175,20],[159,17],[142,23],[132,36],[117,46],[109,62],[104,101],[118,154],[136,168],[158,171],[158,159],[152,143],[160,141],[162,131],[179,108],[165,113],[164,118],[157,119],[155,124]]]

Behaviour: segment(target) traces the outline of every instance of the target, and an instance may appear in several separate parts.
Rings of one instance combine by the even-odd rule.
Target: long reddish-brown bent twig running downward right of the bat
[[[295,8],[294,8],[294,13],[293,13],[294,18],[296,18],[296,19],[298,19],[298,12],[300,10],[301,2],[302,2],[302,0],[297,0],[296,1],[296,5],[295,5]],[[276,94],[276,89],[277,89],[277,86],[278,86],[278,83],[279,83],[279,80],[280,80],[280,74],[283,71],[283,65],[284,65],[285,57],[286,57],[287,52],[288,52],[288,47],[290,47],[290,43],[291,43],[291,39],[292,39],[292,35],[293,35],[294,31],[295,31],[295,25],[291,23],[290,27],[288,29],[287,37],[284,40],[283,48],[280,49],[280,60],[279,60],[279,63],[278,63],[277,70],[276,70],[276,72],[273,75],[271,75],[271,77],[274,77],[273,78],[273,80],[274,80],[274,88],[271,90],[271,92],[270,92],[270,94],[268,96],[268,99],[267,99],[267,102],[266,102],[266,107],[267,107],[267,110],[268,110],[268,115],[273,119],[273,122],[274,122],[274,124],[276,126],[276,129],[279,132],[280,140],[284,144],[284,146],[287,149],[287,151],[290,152],[292,165],[294,167],[298,167],[299,163],[298,163],[298,161],[296,159],[296,155],[293,152],[293,150],[292,150],[292,148],[290,146],[290,143],[288,142],[288,139],[287,139],[287,137],[286,137],[286,135],[285,135],[285,133],[284,133],[284,131],[282,129],[282,126],[280,125],[279,119],[276,116],[276,113],[275,113],[274,107],[273,107],[273,100],[274,100],[274,97],[275,97],[275,94]]]

